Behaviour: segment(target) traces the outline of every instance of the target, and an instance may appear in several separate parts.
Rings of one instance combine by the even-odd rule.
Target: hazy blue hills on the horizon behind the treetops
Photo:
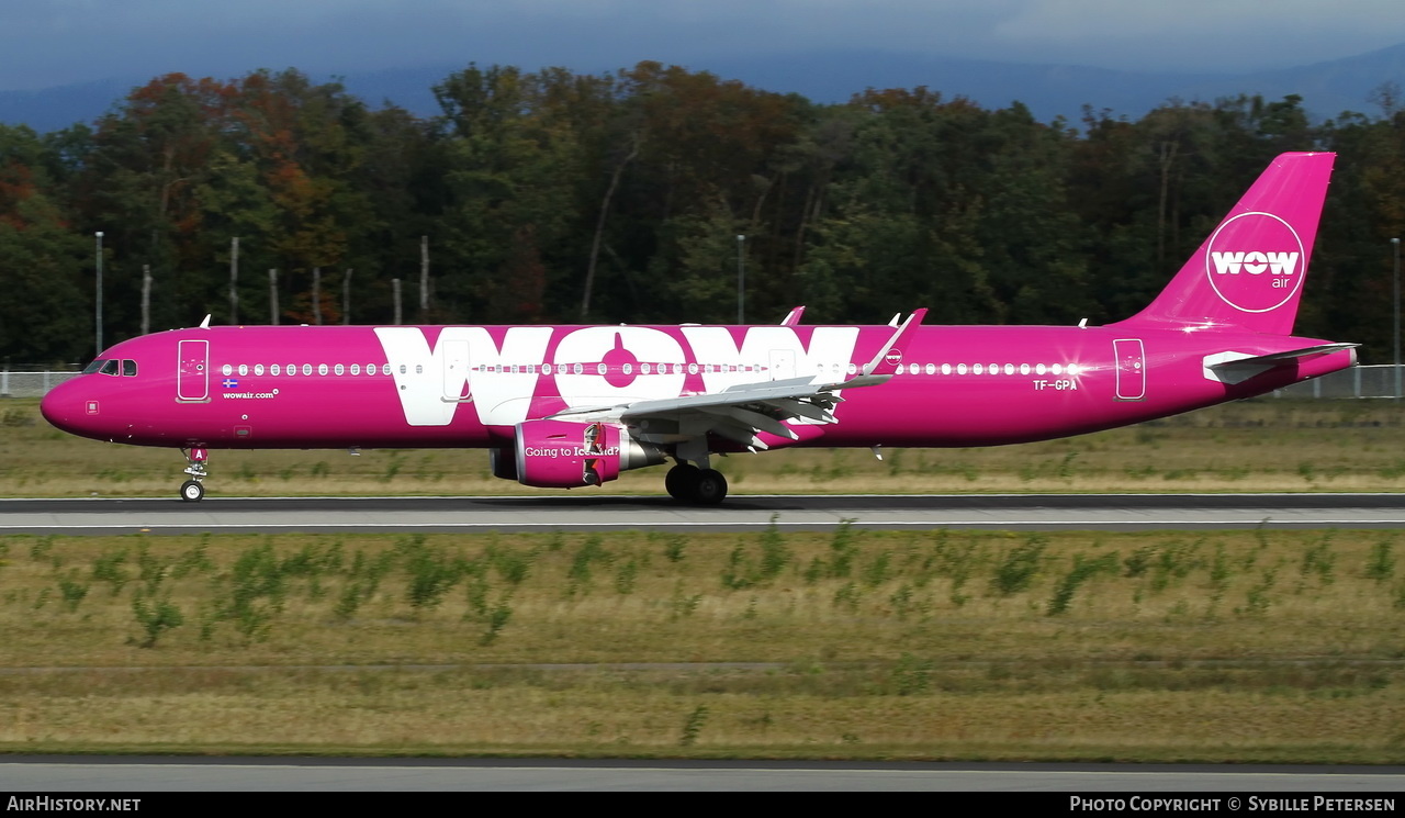
[[[430,117],[438,112],[431,86],[465,67],[469,59],[374,73],[348,72],[341,79],[348,91],[372,105],[392,101],[417,115]],[[1298,94],[1304,107],[1322,119],[1342,111],[1380,114],[1371,103],[1371,91],[1385,83],[1405,87],[1405,44],[1347,59],[1242,74],[1139,73],[857,51],[718,58],[687,67],[773,91],[797,93],[816,103],[842,103],[870,87],[927,86],[948,98],[968,97],[986,108],[1003,108],[1020,101],[1041,121],[1064,117],[1076,124],[1083,105],[1138,119],[1169,98],[1213,103],[1236,94],[1260,94],[1267,100]],[[613,69],[576,70],[600,73]],[[0,91],[0,122],[27,124],[39,132],[91,122],[132,87],[149,79],[100,80],[42,91]]]

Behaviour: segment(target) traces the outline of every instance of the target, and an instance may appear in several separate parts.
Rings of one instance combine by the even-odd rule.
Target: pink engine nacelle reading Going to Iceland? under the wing
[[[597,486],[621,471],[665,460],[660,448],[634,440],[621,426],[570,420],[518,423],[513,454],[516,475],[504,474],[502,454],[495,457],[493,472],[544,489]]]

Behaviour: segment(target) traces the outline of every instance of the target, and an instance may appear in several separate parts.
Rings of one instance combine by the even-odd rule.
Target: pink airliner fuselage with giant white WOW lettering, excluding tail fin
[[[839,382],[891,335],[887,326],[185,329],[111,347],[101,357],[135,361],[135,375],[74,378],[45,398],[44,413],[66,431],[136,446],[502,447],[516,423],[568,408],[811,374]],[[837,423],[811,424],[795,443],[767,441],[962,447],[1080,434],[1353,363],[1338,351],[1234,385],[1203,364],[1217,353],[1316,343],[1218,327],[920,327],[901,374],[842,392]]]

